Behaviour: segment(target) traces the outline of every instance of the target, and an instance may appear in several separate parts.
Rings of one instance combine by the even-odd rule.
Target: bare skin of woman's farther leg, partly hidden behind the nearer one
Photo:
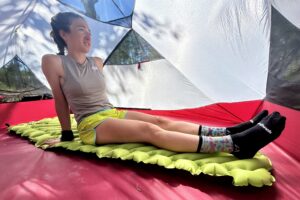
[[[199,124],[170,120],[164,117],[149,115],[135,111],[127,111],[126,119],[149,122],[168,131],[176,131],[192,135],[198,135],[200,126]]]

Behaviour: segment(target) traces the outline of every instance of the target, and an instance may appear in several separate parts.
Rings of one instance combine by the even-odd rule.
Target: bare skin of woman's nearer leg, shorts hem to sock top
[[[145,142],[177,152],[196,152],[199,143],[199,136],[127,119],[106,119],[96,128],[96,134],[96,144]]]

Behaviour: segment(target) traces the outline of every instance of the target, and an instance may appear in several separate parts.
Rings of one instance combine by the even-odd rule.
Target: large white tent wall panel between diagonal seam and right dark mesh
[[[268,1],[136,1],[133,29],[214,102],[262,99],[269,9]]]

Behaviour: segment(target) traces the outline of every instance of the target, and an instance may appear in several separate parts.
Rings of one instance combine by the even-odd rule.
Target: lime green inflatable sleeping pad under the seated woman
[[[239,160],[229,153],[176,153],[143,143],[107,144],[97,147],[85,145],[80,141],[74,115],[71,115],[71,122],[74,141],[60,142],[53,147],[44,144],[44,141],[60,137],[61,128],[57,117],[10,126],[8,130],[27,137],[36,147],[43,149],[61,147],[76,152],[93,153],[98,158],[133,160],[167,169],[185,170],[192,175],[203,173],[216,177],[230,176],[235,186],[263,187],[272,186],[275,182],[275,178],[269,172],[272,169],[271,161],[261,153],[257,153],[252,159]]]

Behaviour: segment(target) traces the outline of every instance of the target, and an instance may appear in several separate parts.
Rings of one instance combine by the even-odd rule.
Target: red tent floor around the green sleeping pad
[[[17,124],[55,116],[53,100],[0,104],[0,199],[300,199],[300,112],[266,101],[220,103],[177,111],[141,111],[207,125],[228,126],[263,108],[287,116],[281,137],[262,151],[273,163],[271,187],[234,187],[228,177],[192,176],[185,171],[133,161],[36,148],[8,134]]]

